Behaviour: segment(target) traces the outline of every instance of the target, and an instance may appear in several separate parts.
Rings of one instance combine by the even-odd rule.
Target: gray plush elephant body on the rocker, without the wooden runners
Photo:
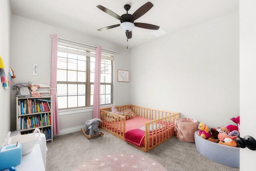
[[[102,120],[97,118],[86,121],[84,131],[86,132],[86,134],[89,133],[90,136],[94,134],[96,135],[100,134],[98,126],[100,125],[101,122]]]

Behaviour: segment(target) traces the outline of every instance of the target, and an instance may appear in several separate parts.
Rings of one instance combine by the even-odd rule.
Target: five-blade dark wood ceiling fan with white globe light
[[[113,11],[109,10],[108,8],[105,8],[104,6],[98,5],[97,8],[102,10],[103,12],[106,12],[110,16],[120,20],[121,24],[115,24],[112,26],[107,26],[104,28],[98,29],[98,31],[102,30],[108,30],[111,28],[116,28],[120,26],[122,30],[126,32],[127,42],[128,39],[132,38],[132,29],[135,27],[140,28],[146,28],[150,30],[158,30],[160,27],[153,25],[153,24],[147,24],[147,23],[141,23],[141,22],[134,22],[134,20],[137,20],[146,12],[148,12],[154,5],[151,2],[147,2],[146,4],[142,5],[138,10],[136,10],[133,14],[128,14],[128,11],[130,10],[131,6],[129,4],[124,5],[124,9],[126,10],[126,14],[123,14],[122,16],[119,16],[118,14],[114,13]]]

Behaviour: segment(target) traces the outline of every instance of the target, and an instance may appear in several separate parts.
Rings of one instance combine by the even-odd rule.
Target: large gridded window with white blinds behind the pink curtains
[[[114,54],[102,52],[100,104],[112,104]],[[95,50],[58,41],[58,109],[93,105]]]

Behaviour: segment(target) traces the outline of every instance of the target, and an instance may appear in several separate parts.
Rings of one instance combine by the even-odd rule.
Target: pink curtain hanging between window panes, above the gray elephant
[[[101,68],[101,46],[96,48],[94,91],[93,91],[93,118],[100,118],[100,68]]]

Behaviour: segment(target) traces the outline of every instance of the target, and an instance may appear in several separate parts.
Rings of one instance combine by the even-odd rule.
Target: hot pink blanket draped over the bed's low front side
[[[134,145],[137,145],[138,147],[141,147],[144,137],[145,131],[141,129],[132,129],[126,132],[124,140]]]

